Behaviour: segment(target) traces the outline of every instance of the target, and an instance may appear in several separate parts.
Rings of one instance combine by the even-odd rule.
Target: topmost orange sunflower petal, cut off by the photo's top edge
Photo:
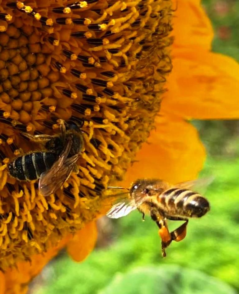
[[[173,47],[211,49],[213,28],[199,0],[175,0]]]

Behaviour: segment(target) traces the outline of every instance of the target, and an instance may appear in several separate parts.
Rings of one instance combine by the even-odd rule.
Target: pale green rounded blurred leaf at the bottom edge
[[[150,266],[116,274],[99,294],[236,294],[233,288],[200,271],[177,265]]]

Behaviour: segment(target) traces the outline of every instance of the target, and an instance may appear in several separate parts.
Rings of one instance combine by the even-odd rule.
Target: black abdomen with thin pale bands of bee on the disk
[[[12,177],[20,181],[31,181],[40,178],[43,172],[48,171],[58,156],[50,152],[34,152],[15,158],[8,165]]]

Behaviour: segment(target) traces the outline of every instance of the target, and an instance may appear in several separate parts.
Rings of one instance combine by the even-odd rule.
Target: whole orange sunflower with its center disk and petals
[[[125,185],[196,177],[205,150],[187,120],[238,117],[239,67],[210,52],[196,0],[2,1],[0,16],[0,293],[25,293],[63,246],[77,261],[92,250],[103,191],[127,168]],[[24,133],[56,134],[59,118],[81,126],[85,150],[43,197],[7,167],[39,150]]]

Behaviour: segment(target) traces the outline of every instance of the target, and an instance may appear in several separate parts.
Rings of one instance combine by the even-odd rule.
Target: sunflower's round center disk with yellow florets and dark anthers
[[[63,6],[62,6],[63,5]],[[0,268],[94,219],[159,111],[171,71],[171,1],[3,0],[0,13]],[[21,132],[82,126],[85,151],[63,189],[43,197],[7,164],[42,151]]]

